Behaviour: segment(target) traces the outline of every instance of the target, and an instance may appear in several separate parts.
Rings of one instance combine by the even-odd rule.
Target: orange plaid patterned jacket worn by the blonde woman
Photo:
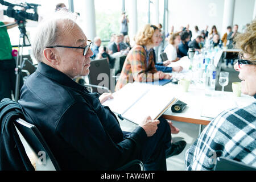
[[[128,53],[123,64],[121,75],[118,79],[115,90],[121,89],[128,82],[146,82],[159,79],[155,68],[153,51],[149,53],[148,63],[146,60],[146,50],[143,46],[134,46]]]

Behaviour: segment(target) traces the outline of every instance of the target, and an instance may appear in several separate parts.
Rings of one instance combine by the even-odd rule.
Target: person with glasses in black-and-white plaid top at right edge
[[[234,69],[240,72],[242,93],[256,98],[256,19],[236,37],[242,52]],[[256,167],[256,102],[223,111],[214,118],[186,152],[188,170],[213,170],[218,157]]]

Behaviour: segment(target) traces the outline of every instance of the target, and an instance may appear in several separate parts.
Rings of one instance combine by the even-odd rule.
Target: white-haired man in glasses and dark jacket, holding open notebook
[[[71,13],[58,11],[39,24],[32,43],[38,69],[19,100],[27,122],[38,127],[63,170],[113,170],[134,159],[146,169],[166,170],[166,156],[184,148],[171,144],[168,122],[147,117],[123,133],[109,107],[101,105],[112,95],[98,97],[73,81],[89,74],[89,46]]]

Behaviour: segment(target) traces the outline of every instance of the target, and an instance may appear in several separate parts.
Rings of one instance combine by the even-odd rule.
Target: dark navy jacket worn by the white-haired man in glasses
[[[21,90],[27,122],[38,127],[61,169],[115,169],[138,159],[147,135],[137,127],[123,138],[117,118],[67,75],[44,63]]]

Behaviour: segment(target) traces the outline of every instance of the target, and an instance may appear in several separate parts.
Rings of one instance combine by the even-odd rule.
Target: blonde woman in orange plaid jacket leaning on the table
[[[159,28],[151,24],[146,24],[138,32],[135,36],[136,45],[126,57],[115,90],[121,89],[128,82],[151,82],[171,79],[170,75],[157,71],[155,68],[153,47],[159,45],[159,36]]]

